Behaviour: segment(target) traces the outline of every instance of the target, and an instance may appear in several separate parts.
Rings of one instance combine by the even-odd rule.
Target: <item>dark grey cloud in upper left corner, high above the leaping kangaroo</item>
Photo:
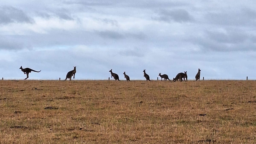
[[[2,6],[0,7],[0,24],[8,23],[33,23],[34,20],[25,14],[22,10],[11,7]]]

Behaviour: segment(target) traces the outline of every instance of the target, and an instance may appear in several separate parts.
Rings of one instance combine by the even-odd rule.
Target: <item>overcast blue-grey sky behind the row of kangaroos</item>
[[[256,79],[256,3],[233,0],[2,0],[0,77]]]

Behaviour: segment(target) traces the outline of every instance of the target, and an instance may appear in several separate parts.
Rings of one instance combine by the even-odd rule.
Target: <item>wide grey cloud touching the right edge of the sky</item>
[[[254,35],[242,30],[228,30],[226,33],[205,31],[202,36],[186,38],[186,41],[198,45],[203,51],[256,51]]]

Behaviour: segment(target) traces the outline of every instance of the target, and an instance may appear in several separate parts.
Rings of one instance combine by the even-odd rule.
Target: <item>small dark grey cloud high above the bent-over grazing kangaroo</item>
[[[194,20],[192,15],[190,15],[184,9],[175,9],[175,10],[161,10],[158,17],[152,17],[154,20],[164,21],[164,22],[191,22]]]

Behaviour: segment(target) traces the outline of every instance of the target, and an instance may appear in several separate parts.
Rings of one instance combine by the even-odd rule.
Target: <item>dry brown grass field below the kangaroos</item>
[[[1,143],[256,143],[255,81],[0,87]]]

